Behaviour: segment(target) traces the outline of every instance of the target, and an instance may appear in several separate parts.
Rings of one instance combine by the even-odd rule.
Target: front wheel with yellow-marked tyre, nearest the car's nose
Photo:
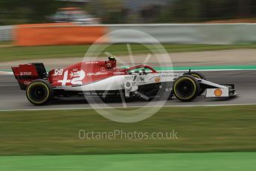
[[[182,102],[194,100],[200,89],[199,83],[191,75],[183,75],[173,83],[173,94]]]

